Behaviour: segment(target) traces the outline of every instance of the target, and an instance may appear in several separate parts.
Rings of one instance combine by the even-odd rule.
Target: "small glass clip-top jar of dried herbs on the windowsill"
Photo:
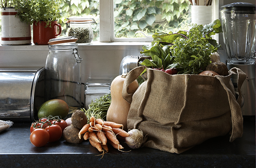
[[[76,43],[90,44],[93,41],[93,28],[92,23],[95,23],[94,19],[84,17],[70,17],[67,18],[66,29],[64,34],[68,30],[68,36],[75,36],[78,38]]]

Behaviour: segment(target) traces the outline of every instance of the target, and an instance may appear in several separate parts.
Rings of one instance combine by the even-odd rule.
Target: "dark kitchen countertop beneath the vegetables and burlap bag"
[[[30,124],[14,123],[0,133],[0,168],[255,168],[256,163],[255,116],[244,119],[243,137],[232,143],[228,135],[211,138],[181,154],[109,147],[103,158],[88,141],[71,144],[61,139],[35,147],[29,140]]]

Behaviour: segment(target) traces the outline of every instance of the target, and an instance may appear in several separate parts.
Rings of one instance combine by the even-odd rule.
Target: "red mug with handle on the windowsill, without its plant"
[[[46,27],[43,21],[33,22],[33,42],[36,45],[47,45],[50,39],[56,38],[61,33],[61,26],[57,21],[52,21]]]

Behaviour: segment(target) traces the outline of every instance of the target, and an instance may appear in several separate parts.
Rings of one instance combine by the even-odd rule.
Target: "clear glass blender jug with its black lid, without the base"
[[[236,2],[221,7],[223,40],[231,64],[255,63],[255,5]]]

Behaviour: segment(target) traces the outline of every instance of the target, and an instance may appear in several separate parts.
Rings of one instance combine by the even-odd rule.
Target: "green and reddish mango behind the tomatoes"
[[[64,119],[69,112],[68,104],[61,99],[51,99],[45,101],[38,110],[38,118],[52,116],[61,116]]]

